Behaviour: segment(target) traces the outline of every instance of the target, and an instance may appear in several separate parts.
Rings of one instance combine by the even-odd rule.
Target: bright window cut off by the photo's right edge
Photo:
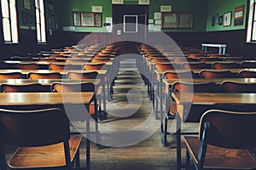
[[[256,42],[256,0],[250,0],[247,42]]]

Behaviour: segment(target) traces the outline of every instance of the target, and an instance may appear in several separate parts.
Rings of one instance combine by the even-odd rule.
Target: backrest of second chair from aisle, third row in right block
[[[199,73],[203,78],[232,78],[235,77],[231,71],[201,70]]]

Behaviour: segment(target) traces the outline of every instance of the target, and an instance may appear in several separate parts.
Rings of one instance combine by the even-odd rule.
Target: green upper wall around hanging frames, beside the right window
[[[234,26],[234,10],[236,7],[244,5],[244,20],[241,26]],[[247,0],[207,0],[207,31],[227,31],[245,29]],[[231,11],[231,26],[212,26],[212,16],[224,15]]]

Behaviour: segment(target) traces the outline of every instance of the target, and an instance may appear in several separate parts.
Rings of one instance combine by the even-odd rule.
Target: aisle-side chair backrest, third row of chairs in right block
[[[193,71],[166,71],[164,72],[166,79],[182,79],[182,78],[193,78],[195,74]]]

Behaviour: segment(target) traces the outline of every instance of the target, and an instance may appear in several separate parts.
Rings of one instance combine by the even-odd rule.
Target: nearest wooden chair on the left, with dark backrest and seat
[[[1,169],[9,169],[5,144],[19,146],[9,160],[11,169],[72,169],[74,163],[79,169],[82,138],[70,136],[69,119],[64,111],[0,109],[0,127]]]

